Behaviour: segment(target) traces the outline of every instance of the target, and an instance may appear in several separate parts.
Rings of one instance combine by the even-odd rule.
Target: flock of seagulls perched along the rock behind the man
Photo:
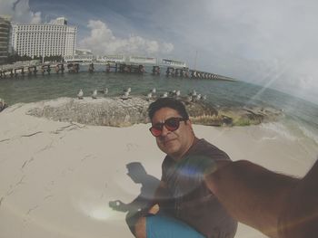
[[[121,95],[122,100],[127,100],[129,99],[130,92],[132,91],[131,88],[127,88],[123,90],[123,93]],[[98,93],[102,93],[104,97],[106,97],[108,93],[108,88],[105,88],[104,90],[94,90],[91,94],[92,99],[97,99]],[[157,90],[154,88],[148,92],[146,95],[147,100],[154,100],[157,98],[176,98],[176,99],[184,99],[187,102],[192,102],[192,101],[199,101],[199,100],[206,100],[206,95],[202,95],[200,93],[197,93],[196,90],[192,90],[190,93],[188,93],[185,97],[181,96],[181,91],[180,90],[171,90],[171,91],[164,91],[163,94],[157,94]],[[77,98],[79,100],[84,99],[84,91],[81,89],[77,93]]]

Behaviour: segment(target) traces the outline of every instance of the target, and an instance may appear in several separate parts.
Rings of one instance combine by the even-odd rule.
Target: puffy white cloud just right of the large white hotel
[[[107,24],[90,20],[91,33],[79,42],[79,47],[91,49],[96,54],[129,53],[149,54],[169,53],[174,50],[172,43],[159,43],[131,34],[127,38],[115,37]]]

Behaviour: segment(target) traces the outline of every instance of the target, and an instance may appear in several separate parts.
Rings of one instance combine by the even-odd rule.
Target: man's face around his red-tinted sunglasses
[[[166,119],[181,118],[175,109],[162,108],[154,113],[152,124],[163,123]],[[163,127],[161,136],[156,138],[158,147],[168,156],[179,159],[194,143],[194,132],[190,120],[180,121],[179,129],[169,131]]]

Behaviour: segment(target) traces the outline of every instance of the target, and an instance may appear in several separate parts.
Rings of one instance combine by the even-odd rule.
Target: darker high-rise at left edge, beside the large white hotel
[[[0,64],[5,63],[10,48],[11,24],[8,17],[0,16]]]

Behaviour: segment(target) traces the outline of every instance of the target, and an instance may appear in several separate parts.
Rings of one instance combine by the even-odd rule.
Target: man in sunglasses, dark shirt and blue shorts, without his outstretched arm
[[[135,226],[137,237],[234,237],[237,222],[204,183],[204,170],[230,161],[224,151],[194,136],[184,104],[172,98],[149,107],[150,129],[166,154],[162,179],[152,205],[159,212],[145,215]],[[211,172],[211,171],[209,171]]]

